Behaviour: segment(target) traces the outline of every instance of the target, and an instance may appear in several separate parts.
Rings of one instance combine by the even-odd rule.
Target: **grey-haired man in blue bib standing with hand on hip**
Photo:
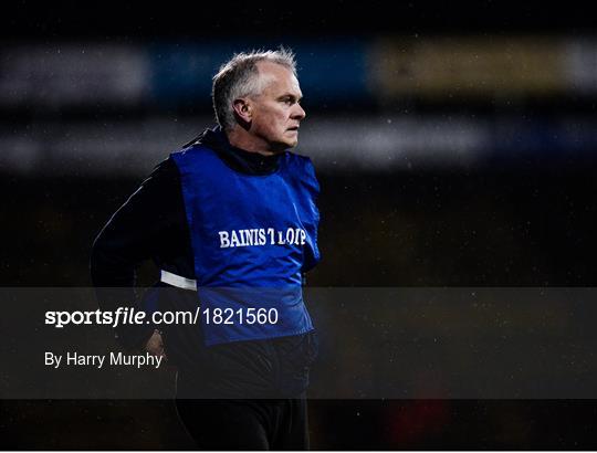
[[[234,55],[213,77],[219,127],[158,165],[94,243],[104,309],[123,305],[108,287],[130,288],[133,304],[147,259],[161,278],[145,308],[200,305],[198,325],[116,333],[178,367],[177,408],[199,447],[308,447],[304,391],[317,344],[301,284],[320,260],[318,185],[308,158],[287,150],[301,98],[290,51]]]

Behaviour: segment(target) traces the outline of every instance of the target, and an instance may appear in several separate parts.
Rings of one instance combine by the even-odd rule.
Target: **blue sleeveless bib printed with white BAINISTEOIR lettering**
[[[180,172],[206,345],[313,329],[302,272],[320,260],[311,160],[292,152],[271,175],[229,168],[210,148],[171,155]]]

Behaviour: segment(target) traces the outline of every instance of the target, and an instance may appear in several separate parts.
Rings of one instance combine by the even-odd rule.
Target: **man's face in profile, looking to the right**
[[[272,152],[292,148],[298,143],[298,125],[305,110],[298,102],[303,97],[298,81],[286,67],[258,63],[264,82],[261,94],[251,96],[252,117],[249,131],[263,141]]]

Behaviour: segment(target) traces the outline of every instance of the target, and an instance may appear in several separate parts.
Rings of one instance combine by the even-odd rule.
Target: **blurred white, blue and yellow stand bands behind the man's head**
[[[475,169],[524,158],[561,165],[591,157],[597,144],[597,40],[590,36],[284,44],[296,51],[310,114],[300,150],[322,171]],[[143,176],[213,123],[210,81],[223,61],[276,45],[4,46],[0,107],[11,119],[0,133],[0,161],[25,173]]]

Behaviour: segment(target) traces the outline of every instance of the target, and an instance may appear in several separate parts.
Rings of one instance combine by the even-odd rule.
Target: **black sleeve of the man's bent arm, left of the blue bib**
[[[91,254],[91,276],[104,310],[136,306],[136,268],[145,260],[159,261],[165,254],[181,254],[184,218],[180,177],[171,159],[160,162],[142,186],[116,211],[95,240]],[[178,232],[176,234],[175,232]],[[182,234],[188,235],[182,231]],[[119,289],[111,289],[119,288]],[[138,347],[154,331],[153,325],[116,329],[125,347]]]

